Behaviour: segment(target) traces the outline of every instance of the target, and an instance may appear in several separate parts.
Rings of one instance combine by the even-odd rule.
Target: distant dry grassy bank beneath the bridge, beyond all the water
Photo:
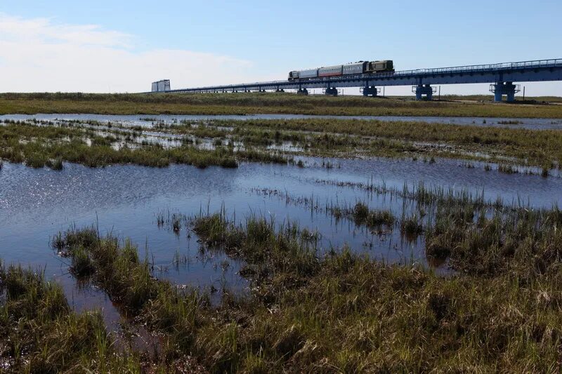
[[[289,93],[83,94],[4,93],[0,114],[325,114],[372,116],[492,116],[562,118],[561,105],[416,102]]]

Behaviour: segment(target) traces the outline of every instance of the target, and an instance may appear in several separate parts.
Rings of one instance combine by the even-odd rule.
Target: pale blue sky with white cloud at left
[[[562,58],[561,14],[560,0],[1,0],[0,92],[280,80],[358,60],[393,60],[403,70]],[[562,96],[562,82],[522,85],[527,95]]]

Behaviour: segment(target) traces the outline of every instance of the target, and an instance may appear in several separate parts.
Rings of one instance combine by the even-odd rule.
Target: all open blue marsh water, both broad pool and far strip
[[[1,120],[81,120],[111,121],[150,126],[152,121],[205,119],[311,118],[313,116],[107,116],[91,114],[40,114],[0,116]],[[339,117],[340,118],[340,117]],[[345,117],[387,119],[388,117]],[[480,124],[483,119],[447,117],[391,117],[395,120],[443,121]],[[486,126],[502,126],[486,119]],[[517,119],[511,127],[562,128],[561,120]],[[483,125],[484,126],[484,125]],[[554,126],[554,127],[553,127]],[[287,145],[289,147],[289,145]],[[498,196],[507,203],[533,208],[562,205],[562,178],[525,173],[506,174],[484,163],[451,159],[426,162],[411,159],[320,159],[297,157],[306,167],[278,164],[241,163],[238,168],[173,165],[167,168],[108,166],[88,168],[65,163],[62,171],[34,169],[22,164],[4,163],[0,168],[0,258],[7,263],[44,270],[49,279],[63,285],[68,300],[77,309],[101,308],[108,324],[119,321],[118,306],[103,291],[79,285],[68,272],[68,264],[50,245],[52,237],[70,227],[94,225],[100,234],[130,238],[141,258],[153,265],[154,275],[169,279],[179,287],[196,286],[218,299],[222,292],[247,292],[249,283],[240,276],[244,265],[221,251],[202,250],[197,235],[183,225],[174,232],[158,225],[174,214],[214,213],[222,208],[236,222],[249,215],[275,220],[276,225],[298,223],[318,232],[318,251],[352,251],[389,262],[420,262],[447,272],[446,263],[428,262],[424,238],[407,241],[399,229],[376,231],[355,225],[352,220],[336,220],[325,207],[353,206],[358,201],[370,208],[389,209],[397,216],[406,201],[390,195],[377,195],[353,187],[353,183],[444,187],[483,194],[493,201]],[[329,166],[329,167],[327,167]],[[556,175],[559,175],[557,173]],[[348,186],[339,187],[338,184]]]

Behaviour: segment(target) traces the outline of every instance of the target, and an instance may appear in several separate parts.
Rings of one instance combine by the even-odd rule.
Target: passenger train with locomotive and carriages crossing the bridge
[[[359,61],[353,62],[352,64],[320,67],[318,69],[293,70],[292,72],[289,72],[289,81],[294,81],[296,79],[324,78],[327,76],[393,72],[394,62],[392,60]]]

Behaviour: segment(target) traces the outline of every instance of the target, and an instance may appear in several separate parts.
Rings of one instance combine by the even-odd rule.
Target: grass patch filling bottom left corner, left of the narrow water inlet
[[[0,267],[0,363],[11,373],[138,373],[141,359],[119,352],[99,312],[77,314],[63,289],[33,269]],[[164,367],[164,366],[162,366]]]

